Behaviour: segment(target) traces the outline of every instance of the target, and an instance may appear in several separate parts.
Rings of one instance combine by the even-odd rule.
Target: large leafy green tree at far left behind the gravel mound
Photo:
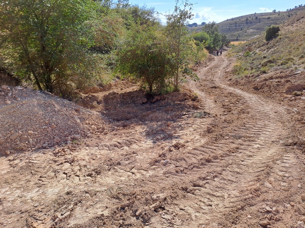
[[[0,0],[3,67],[51,93],[90,82],[100,58],[89,48],[113,36],[97,22],[100,7],[93,0]]]

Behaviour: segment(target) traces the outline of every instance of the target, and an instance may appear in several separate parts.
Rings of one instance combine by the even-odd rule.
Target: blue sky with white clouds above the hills
[[[138,4],[140,6],[146,5],[148,8],[154,7],[157,12],[165,13],[172,12],[174,10],[175,1],[174,0],[129,0],[132,4]],[[193,14],[194,18],[190,23],[196,22],[201,24],[201,22],[212,22],[216,21],[222,22],[226,19],[231,19],[232,17],[238,17],[242,15],[261,13],[261,12],[271,12],[276,11],[286,11],[286,9],[294,8],[301,4],[305,5],[305,0],[257,0],[257,1],[190,1],[193,3]],[[197,3],[197,4],[195,4]],[[164,22],[164,19],[161,18]]]

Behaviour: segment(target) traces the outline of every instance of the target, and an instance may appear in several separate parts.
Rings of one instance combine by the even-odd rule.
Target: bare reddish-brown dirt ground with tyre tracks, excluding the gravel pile
[[[185,84],[199,99],[91,91],[107,133],[0,157],[0,227],[304,227],[305,100],[235,86],[232,60],[209,58]]]

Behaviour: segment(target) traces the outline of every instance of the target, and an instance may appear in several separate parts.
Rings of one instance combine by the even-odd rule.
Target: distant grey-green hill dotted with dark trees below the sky
[[[265,28],[271,25],[280,25],[300,12],[305,12],[305,5],[288,11],[253,13],[245,16],[239,16],[227,19],[218,23],[221,33],[225,33],[231,41],[246,41],[252,39],[261,33]],[[191,28],[200,31],[201,25]]]

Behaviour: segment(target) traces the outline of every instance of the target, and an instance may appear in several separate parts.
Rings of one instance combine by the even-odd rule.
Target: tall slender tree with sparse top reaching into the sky
[[[194,81],[199,80],[189,67],[190,61],[199,53],[199,48],[194,50],[192,33],[187,30],[188,20],[194,16],[192,6],[193,4],[187,0],[181,4],[177,0],[174,12],[165,15],[167,19],[165,34],[172,63],[170,68],[175,90],[179,89],[179,82],[186,77]]]

